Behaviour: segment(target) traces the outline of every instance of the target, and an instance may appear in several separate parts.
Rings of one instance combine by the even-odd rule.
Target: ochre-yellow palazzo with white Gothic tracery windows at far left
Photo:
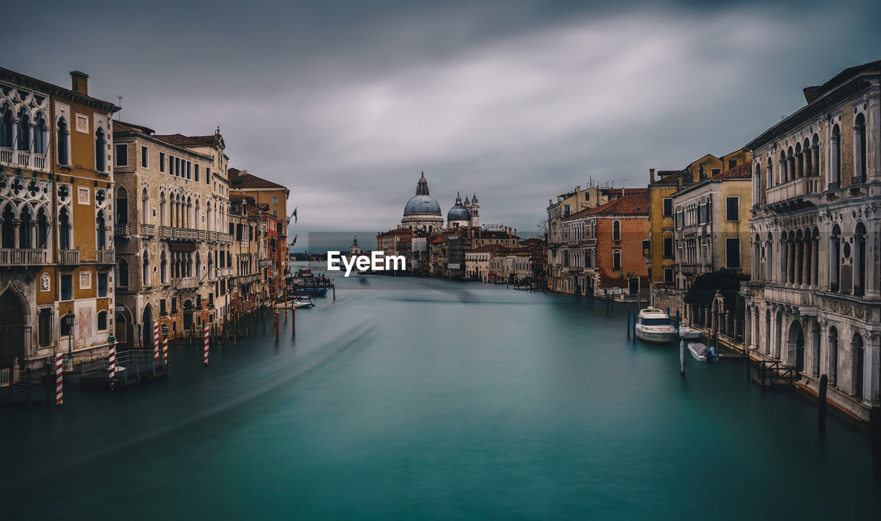
[[[67,89],[0,68],[0,370],[12,380],[59,351],[103,351],[113,330],[119,108],[70,77]]]

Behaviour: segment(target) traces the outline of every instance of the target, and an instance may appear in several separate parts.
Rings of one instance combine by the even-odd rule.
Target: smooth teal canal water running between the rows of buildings
[[[868,435],[626,307],[440,279],[336,299],[115,394],[0,410],[4,518],[876,518]]]

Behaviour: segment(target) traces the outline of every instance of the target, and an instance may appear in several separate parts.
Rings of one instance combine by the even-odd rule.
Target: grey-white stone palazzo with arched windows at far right
[[[753,139],[746,343],[866,420],[877,406],[881,62],[804,89],[807,105]]]

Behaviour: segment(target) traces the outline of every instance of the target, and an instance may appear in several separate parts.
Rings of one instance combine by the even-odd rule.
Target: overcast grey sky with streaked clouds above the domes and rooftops
[[[4,6],[5,67],[85,71],[160,133],[219,125],[231,166],[291,188],[297,249],[395,227],[420,171],[444,212],[477,192],[532,231],[576,184],[728,153],[881,59],[877,2],[39,5]]]

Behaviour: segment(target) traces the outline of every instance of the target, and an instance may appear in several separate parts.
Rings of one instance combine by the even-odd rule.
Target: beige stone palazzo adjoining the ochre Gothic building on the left
[[[224,314],[232,242],[224,143],[219,133],[157,136],[122,122],[114,140],[116,338],[122,349],[152,347],[153,324],[177,339]]]

